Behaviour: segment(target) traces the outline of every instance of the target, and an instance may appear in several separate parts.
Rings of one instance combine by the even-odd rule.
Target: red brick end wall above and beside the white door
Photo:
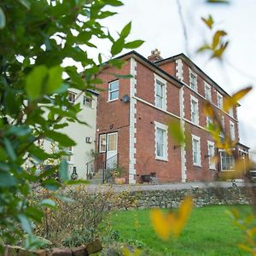
[[[130,96],[130,79],[119,79],[119,100],[108,102],[108,82],[116,79],[115,74],[130,74],[130,61],[119,70],[113,67],[104,69],[97,78],[102,79],[102,91],[98,96],[97,117],[96,117],[96,138],[98,147],[99,134],[118,131],[118,153],[120,166],[124,167],[124,176],[128,177],[129,170],[129,113],[130,104],[121,102],[124,95]],[[111,129],[111,125],[113,128]],[[96,148],[98,150],[98,148]]]

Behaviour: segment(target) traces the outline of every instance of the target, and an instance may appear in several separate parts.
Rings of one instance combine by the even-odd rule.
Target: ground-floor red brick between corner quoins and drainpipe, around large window
[[[156,172],[160,182],[181,181],[180,148],[174,149],[173,138],[168,135],[168,161],[155,159],[154,121],[168,125],[172,123],[166,113],[137,102],[137,180],[143,174]]]

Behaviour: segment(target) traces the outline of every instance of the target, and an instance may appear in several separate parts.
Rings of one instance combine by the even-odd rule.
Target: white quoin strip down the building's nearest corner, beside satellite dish
[[[131,58],[131,62],[130,62],[130,68],[131,68],[131,75],[133,76],[130,79],[130,147],[129,147],[129,183],[130,184],[135,184],[136,183],[136,179],[135,179],[135,175],[136,175],[136,143],[137,143],[137,139],[136,139],[136,133],[137,133],[137,129],[135,127],[136,122],[137,122],[137,116],[136,116],[136,104],[137,104],[137,99],[136,99],[136,93],[137,93],[137,89],[136,89],[136,85],[137,85],[137,79],[136,79],[136,75],[137,75],[137,61],[135,61],[135,59]]]

